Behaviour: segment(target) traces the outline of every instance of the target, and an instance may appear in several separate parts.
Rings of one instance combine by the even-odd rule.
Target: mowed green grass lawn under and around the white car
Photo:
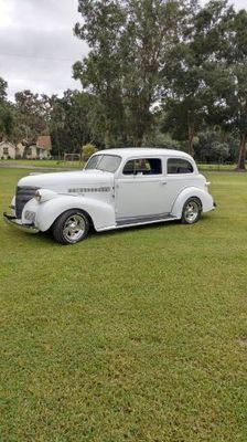
[[[192,227],[61,246],[0,220],[0,441],[247,441],[247,173],[207,178]]]

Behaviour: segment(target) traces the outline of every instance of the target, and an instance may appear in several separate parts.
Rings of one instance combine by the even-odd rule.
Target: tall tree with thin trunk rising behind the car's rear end
[[[210,1],[197,9],[183,30],[183,39],[170,51],[163,69],[164,127],[171,126],[179,138],[187,134],[189,152],[194,154],[193,140],[207,119],[208,108],[215,103],[214,91],[208,84],[216,78],[215,57],[221,51],[221,23],[228,13],[224,0]],[[179,134],[178,134],[179,133]]]

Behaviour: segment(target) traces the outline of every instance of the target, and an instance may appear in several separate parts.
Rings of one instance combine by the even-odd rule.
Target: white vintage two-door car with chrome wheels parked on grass
[[[132,225],[198,221],[215,204],[193,158],[179,150],[122,148],[93,155],[83,170],[28,176],[4,220],[62,244]]]

